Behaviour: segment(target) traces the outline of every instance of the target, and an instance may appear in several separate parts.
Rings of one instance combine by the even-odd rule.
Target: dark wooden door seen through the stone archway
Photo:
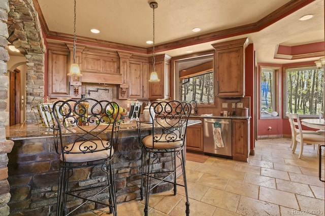
[[[10,72],[9,90],[9,124],[20,123],[20,70],[15,69]]]

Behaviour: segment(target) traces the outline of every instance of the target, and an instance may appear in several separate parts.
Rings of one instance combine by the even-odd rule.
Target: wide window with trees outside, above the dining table
[[[323,82],[323,70],[317,67],[286,69],[284,112],[300,115],[318,115],[322,112]]]

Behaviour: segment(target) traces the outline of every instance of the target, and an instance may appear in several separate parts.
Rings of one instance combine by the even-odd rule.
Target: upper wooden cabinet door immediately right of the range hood
[[[129,61],[128,98],[148,98],[148,63]]]

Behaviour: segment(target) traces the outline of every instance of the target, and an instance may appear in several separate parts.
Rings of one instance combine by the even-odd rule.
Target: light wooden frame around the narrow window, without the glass
[[[272,95],[273,95],[273,99],[272,99],[272,112],[277,112],[277,116],[265,116],[262,117],[262,73],[263,70],[273,70],[274,71],[274,75],[273,75],[273,79],[272,79],[272,84],[273,84],[273,88],[271,91],[273,91]],[[278,66],[266,66],[266,65],[260,65],[259,66],[259,80],[258,80],[258,85],[259,85],[259,113],[258,113],[258,117],[259,119],[280,119],[281,118],[281,106],[280,106],[280,102],[281,102],[281,67]]]

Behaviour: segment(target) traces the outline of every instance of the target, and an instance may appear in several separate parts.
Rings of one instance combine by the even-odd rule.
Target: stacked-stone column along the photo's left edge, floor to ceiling
[[[8,98],[9,80],[5,76],[7,72],[7,61],[9,60],[8,51],[5,47],[8,45],[8,0],[0,1],[0,215],[9,215],[10,186],[8,183],[8,156],[11,152],[14,142],[6,139],[5,126],[9,124],[9,113],[6,112]]]

